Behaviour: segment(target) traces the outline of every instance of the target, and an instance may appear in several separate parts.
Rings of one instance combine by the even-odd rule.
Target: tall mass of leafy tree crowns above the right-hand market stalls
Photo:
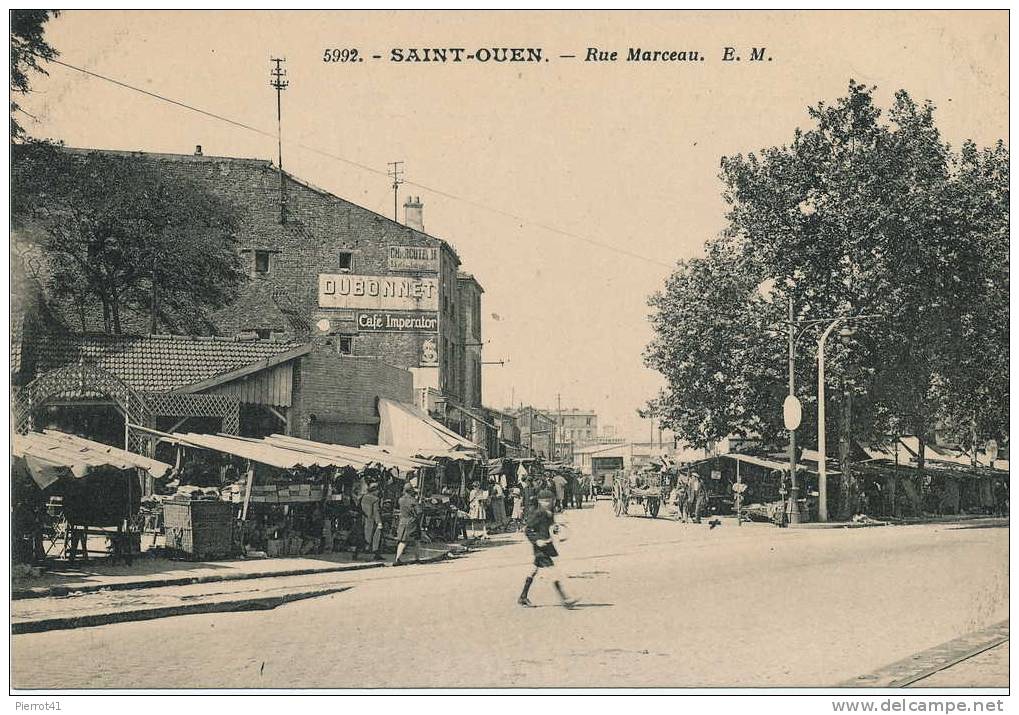
[[[749,331],[759,325],[710,320],[748,310],[749,283],[768,277],[777,286],[775,302],[793,298],[797,321],[877,316],[852,338],[828,342],[826,384],[837,402],[830,428],[848,415],[839,402],[851,401],[857,436],[914,434],[922,442],[950,420],[1007,434],[1008,150],[999,144],[954,151],[937,132],[931,103],[899,92],[886,118],[873,88],[853,81],[847,96],[809,115],[813,125],[797,129],[789,145],[722,159],[725,234],[708,241],[707,259],[681,264],[666,285],[671,298],[652,298],[658,314],[648,365],[665,375],[664,401],[673,402],[658,407],[681,434],[691,432],[685,426],[697,415],[718,418],[715,435],[768,423],[775,407],[764,397],[781,394],[783,376],[759,361],[781,358],[737,347],[754,344]],[[720,244],[729,255],[719,264],[711,256]],[[699,287],[676,287],[697,266],[709,269]],[[733,275],[741,276],[738,295],[719,294],[713,284]],[[701,336],[711,352],[698,360],[692,348]],[[808,329],[797,349],[808,407],[814,336]],[[732,394],[706,392],[711,376],[749,381],[748,396],[736,402]],[[852,495],[852,476],[845,480],[844,494]]]

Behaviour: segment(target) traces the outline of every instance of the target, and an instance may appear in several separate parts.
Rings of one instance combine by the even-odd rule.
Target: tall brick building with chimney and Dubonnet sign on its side
[[[454,249],[425,232],[420,199],[407,200],[401,224],[285,172],[281,190],[279,170],[266,160],[206,156],[201,148],[102,153],[150,161],[239,213],[248,280],[237,297],[207,321],[175,316],[159,332],[314,342],[409,370],[415,387],[453,403],[480,404],[482,289],[473,276],[461,279]],[[125,331],[148,332],[149,321],[147,313],[127,315]],[[82,326],[101,329],[99,321]]]

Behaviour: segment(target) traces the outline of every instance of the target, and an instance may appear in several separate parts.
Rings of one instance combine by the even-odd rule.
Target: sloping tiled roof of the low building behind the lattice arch
[[[303,343],[180,335],[40,335],[37,374],[88,363],[141,392],[170,392],[287,352]]]

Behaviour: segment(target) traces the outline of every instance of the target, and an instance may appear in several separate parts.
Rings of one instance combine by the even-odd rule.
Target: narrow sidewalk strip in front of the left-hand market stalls
[[[422,545],[421,556],[426,562],[460,553],[460,544],[431,543]],[[364,556],[362,556],[364,558]],[[38,579],[14,582],[12,600],[52,598],[97,591],[152,589],[194,584],[215,584],[271,576],[309,575],[333,571],[377,568],[391,561],[354,561],[347,552],[316,556],[236,559],[230,561],[175,561],[165,558],[141,557],[130,566],[112,565],[103,560],[90,563],[60,564]]]

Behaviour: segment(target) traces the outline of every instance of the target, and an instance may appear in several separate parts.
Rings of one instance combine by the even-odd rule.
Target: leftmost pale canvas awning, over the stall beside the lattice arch
[[[29,475],[40,489],[46,489],[68,473],[81,479],[106,468],[140,469],[159,479],[172,469],[156,459],[56,430],[15,434],[11,439],[11,451],[15,458],[24,461]]]

